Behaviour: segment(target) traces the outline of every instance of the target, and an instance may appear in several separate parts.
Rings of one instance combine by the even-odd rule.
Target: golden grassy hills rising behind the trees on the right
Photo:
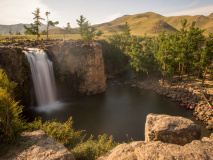
[[[154,12],[147,12],[135,15],[125,15],[113,21],[94,25],[101,29],[105,34],[121,33],[126,22],[130,25],[133,35],[158,34],[165,30],[166,32],[179,32],[181,20],[187,19],[188,23],[196,22],[195,27],[205,30],[205,34],[213,32],[213,13],[209,16],[172,16],[164,17]]]

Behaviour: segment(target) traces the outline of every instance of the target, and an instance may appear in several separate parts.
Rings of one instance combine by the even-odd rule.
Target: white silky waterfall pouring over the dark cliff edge
[[[47,106],[56,102],[55,77],[53,64],[42,49],[30,48],[25,51],[33,79],[38,106]]]

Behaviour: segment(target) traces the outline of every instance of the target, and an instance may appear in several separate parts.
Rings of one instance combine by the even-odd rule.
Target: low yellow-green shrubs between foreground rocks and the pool
[[[110,136],[108,138],[106,134],[99,135],[98,140],[94,140],[91,135],[90,138],[85,141],[84,131],[75,131],[73,129],[71,117],[65,123],[59,123],[55,120],[42,123],[41,118],[37,118],[25,126],[26,131],[38,129],[42,129],[65,147],[71,149],[71,152],[77,160],[96,159],[117,145],[117,143],[113,141],[113,137]]]

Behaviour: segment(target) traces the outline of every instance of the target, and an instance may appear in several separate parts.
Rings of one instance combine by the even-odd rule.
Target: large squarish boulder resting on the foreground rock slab
[[[201,129],[193,121],[169,115],[149,114],[145,124],[145,141],[162,141],[185,145],[200,138]]]

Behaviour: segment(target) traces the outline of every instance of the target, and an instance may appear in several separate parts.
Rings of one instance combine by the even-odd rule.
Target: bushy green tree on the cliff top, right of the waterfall
[[[80,19],[76,20],[79,25],[79,32],[81,35],[81,39],[84,41],[84,43],[89,44],[94,40],[95,37],[95,27],[92,27],[88,21],[86,21],[86,18],[84,18],[82,15],[80,16]]]

